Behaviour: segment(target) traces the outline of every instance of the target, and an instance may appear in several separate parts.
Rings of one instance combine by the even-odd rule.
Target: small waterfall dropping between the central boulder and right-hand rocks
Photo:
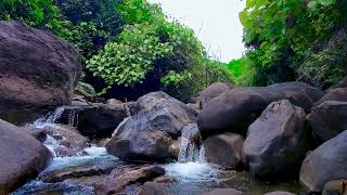
[[[196,123],[188,125],[182,129],[178,161],[205,162],[205,148]]]

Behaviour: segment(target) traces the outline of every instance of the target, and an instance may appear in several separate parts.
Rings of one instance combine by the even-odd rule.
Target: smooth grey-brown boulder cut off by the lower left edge
[[[34,179],[51,160],[50,151],[22,129],[0,120],[0,194]]]

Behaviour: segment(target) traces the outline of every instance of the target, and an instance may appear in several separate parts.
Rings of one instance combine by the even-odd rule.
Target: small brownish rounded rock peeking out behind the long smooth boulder
[[[200,104],[204,107],[209,101],[219,96],[231,88],[227,83],[215,82],[207,87],[198,96]]]

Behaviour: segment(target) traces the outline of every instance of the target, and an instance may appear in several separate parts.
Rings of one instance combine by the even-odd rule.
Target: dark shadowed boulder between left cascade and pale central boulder
[[[128,117],[126,104],[64,106],[56,122],[69,123],[85,136],[111,138],[118,125]]]

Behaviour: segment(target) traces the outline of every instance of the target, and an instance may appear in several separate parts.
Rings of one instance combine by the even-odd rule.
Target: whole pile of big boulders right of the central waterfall
[[[203,103],[197,119],[207,160],[249,170],[262,181],[299,178],[310,193],[346,192],[343,82],[326,92],[303,82],[234,89],[214,84],[220,94]]]

